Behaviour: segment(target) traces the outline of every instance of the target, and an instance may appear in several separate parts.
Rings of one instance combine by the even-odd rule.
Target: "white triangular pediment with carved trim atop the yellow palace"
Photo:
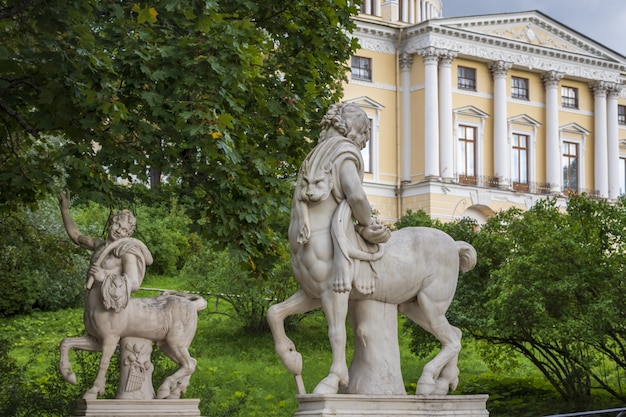
[[[401,52],[450,50],[583,80],[621,82],[626,57],[539,11],[432,19],[406,28]]]

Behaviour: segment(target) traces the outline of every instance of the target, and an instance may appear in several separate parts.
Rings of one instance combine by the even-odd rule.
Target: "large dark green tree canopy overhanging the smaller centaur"
[[[340,98],[355,12],[347,0],[3,2],[0,209],[36,205],[63,178],[106,204],[173,193],[204,236],[271,269],[283,253],[268,219]]]

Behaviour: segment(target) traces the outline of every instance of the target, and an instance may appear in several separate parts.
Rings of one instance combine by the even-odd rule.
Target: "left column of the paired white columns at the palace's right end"
[[[606,83],[598,81],[589,84],[594,97],[594,183],[602,198],[609,194],[609,170],[606,125]]]

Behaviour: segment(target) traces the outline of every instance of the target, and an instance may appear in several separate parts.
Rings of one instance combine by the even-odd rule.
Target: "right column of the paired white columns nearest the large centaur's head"
[[[454,178],[454,133],[452,125],[452,61],[456,52],[445,51],[439,61],[439,175]]]

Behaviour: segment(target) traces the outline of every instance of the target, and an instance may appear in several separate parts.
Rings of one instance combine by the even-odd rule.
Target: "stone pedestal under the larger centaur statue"
[[[488,395],[296,395],[294,417],[488,417]]]

